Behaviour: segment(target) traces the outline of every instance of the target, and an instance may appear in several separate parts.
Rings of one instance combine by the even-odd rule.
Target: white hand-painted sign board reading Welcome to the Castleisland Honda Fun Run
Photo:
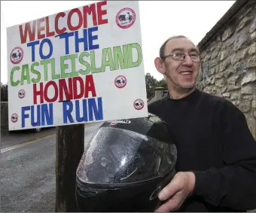
[[[9,130],[148,116],[138,1],[8,30]]]

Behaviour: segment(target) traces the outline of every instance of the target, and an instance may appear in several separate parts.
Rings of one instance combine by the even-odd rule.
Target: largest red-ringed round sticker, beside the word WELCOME
[[[130,28],[135,23],[136,14],[131,8],[123,8],[117,13],[115,21],[122,29]]]

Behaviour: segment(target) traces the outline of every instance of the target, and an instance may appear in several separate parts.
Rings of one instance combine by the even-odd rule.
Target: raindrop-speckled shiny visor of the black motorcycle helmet
[[[125,129],[99,128],[78,165],[90,184],[130,184],[161,177],[175,166],[175,145]]]

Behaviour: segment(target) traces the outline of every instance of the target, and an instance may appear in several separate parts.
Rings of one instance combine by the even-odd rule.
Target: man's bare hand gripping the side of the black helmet
[[[175,211],[181,207],[187,196],[194,190],[195,175],[193,172],[177,172],[172,181],[160,191],[158,198],[166,201],[157,208],[157,212]]]

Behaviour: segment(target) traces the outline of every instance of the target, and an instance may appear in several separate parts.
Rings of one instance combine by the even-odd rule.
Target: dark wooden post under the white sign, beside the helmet
[[[84,153],[84,124],[56,126],[56,212],[78,212],[75,177]]]

